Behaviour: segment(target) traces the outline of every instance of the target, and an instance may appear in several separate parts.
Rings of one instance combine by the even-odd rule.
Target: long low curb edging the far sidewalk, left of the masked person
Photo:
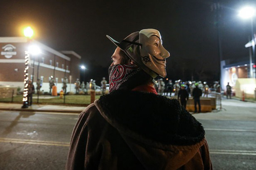
[[[81,113],[82,111],[73,110],[38,110],[38,109],[13,109],[13,108],[0,108],[0,111],[27,111],[27,112],[54,112],[54,113]]]

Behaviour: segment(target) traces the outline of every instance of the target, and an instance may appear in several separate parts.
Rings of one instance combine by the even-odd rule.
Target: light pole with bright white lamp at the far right
[[[253,28],[253,19],[256,15],[256,9],[250,6],[245,6],[240,9],[239,11],[239,17],[243,19],[249,19],[251,20],[251,39],[252,39],[252,50],[253,53],[250,55],[250,77],[253,78],[253,65],[252,65],[252,56],[254,57],[254,63],[256,64],[256,53],[255,53],[255,37],[254,37],[254,28]],[[255,71],[256,73],[256,71]]]

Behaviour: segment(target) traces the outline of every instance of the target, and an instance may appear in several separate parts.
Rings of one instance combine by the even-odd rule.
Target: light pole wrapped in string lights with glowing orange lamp
[[[27,37],[28,39],[28,42],[30,44],[31,40],[32,40],[32,36],[34,34],[34,31],[32,30],[31,27],[26,27],[24,28],[23,30],[23,34],[25,37]],[[28,73],[28,70],[29,70],[29,51],[25,51],[25,69],[24,69],[24,89],[23,89],[23,106],[21,108],[28,108],[28,81],[29,81],[29,73]]]

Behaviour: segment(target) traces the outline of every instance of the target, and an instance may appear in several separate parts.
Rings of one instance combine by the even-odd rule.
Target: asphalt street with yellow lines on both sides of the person
[[[215,170],[255,170],[256,103],[224,100],[194,114],[205,127]],[[1,170],[63,170],[76,113],[0,111]]]

